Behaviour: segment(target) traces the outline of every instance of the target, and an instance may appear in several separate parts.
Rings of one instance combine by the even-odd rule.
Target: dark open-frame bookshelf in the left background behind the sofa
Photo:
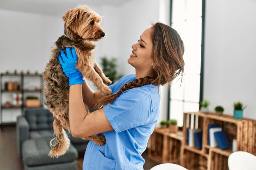
[[[3,77],[19,77],[19,90],[6,90],[5,86],[3,84]],[[25,77],[39,77],[40,78],[40,89],[38,90],[29,90],[29,89],[24,89],[24,78]],[[0,74],[0,86],[1,86],[1,90],[0,90],[0,98],[1,98],[1,105],[0,105],[0,126],[2,128],[3,125],[9,125],[9,124],[15,124],[15,122],[6,122],[3,123],[3,113],[5,112],[5,110],[12,110],[12,109],[18,109],[21,111],[21,115],[23,115],[24,109],[26,108],[43,108],[43,92],[42,92],[42,88],[43,88],[43,75],[42,74],[36,74],[36,73],[30,73],[30,74],[26,74],[26,73],[1,73]],[[3,101],[3,94],[7,93],[7,94],[13,94],[13,93],[20,93],[21,97],[20,100],[22,101],[22,105],[10,105],[10,106],[4,106],[3,103],[5,101]],[[26,93],[32,94],[32,93],[40,93],[40,106],[39,107],[26,107],[25,105],[25,97],[24,95]]]

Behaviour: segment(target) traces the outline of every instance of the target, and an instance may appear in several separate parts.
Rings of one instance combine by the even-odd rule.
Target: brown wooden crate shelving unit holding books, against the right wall
[[[230,115],[216,115],[214,112],[206,114],[198,111],[184,113],[183,137],[179,139],[175,138],[177,136],[175,134],[156,128],[150,138],[149,158],[159,163],[177,163],[189,170],[228,170],[228,156],[232,150],[221,150],[207,144],[208,124],[213,123],[218,123],[222,127],[231,144],[233,139],[237,140],[237,151],[256,155],[256,120],[236,119]],[[196,128],[202,129],[202,149],[187,145],[187,130],[195,128],[195,125]],[[168,143],[167,137],[173,139],[172,143]],[[174,140],[180,142],[175,143]],[[174,155],[169,155],[170,146],[174,148],[171,150],[177,149],[179,153],[172,152],[171,154]],[[169,159],[173,157],[179,160]]]

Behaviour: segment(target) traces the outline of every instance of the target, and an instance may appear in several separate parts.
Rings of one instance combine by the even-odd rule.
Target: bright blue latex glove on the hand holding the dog
[[[66,47],[67,55],[63,50],[60,50],[58,56],[62,70],[65,75],[69,78],[69,86],[74,84],[82,84],[84,82],[82,73],[77,70],[75,65],[77,64],[76,50],[70,47]]]

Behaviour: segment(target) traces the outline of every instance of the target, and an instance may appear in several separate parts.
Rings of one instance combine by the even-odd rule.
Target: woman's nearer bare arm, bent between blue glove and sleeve
[[[77,138],[113,130],[103,109],[90,114],[86,112],[80,84],[71,85],[69,88],[69,123],[72,136]]]

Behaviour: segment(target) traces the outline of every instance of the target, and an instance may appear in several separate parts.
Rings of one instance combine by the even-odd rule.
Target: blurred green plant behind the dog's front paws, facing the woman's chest
[[[103,56],[100,58],[101,59],[101,65],[102,65],[102,71],[108,77],[111,81],[112,84],[119,80],[121,77],[123,77],[123,74],[118,75],[117,74],[117,59],[112,57],[111,59],[108,59],[108,57]]]

